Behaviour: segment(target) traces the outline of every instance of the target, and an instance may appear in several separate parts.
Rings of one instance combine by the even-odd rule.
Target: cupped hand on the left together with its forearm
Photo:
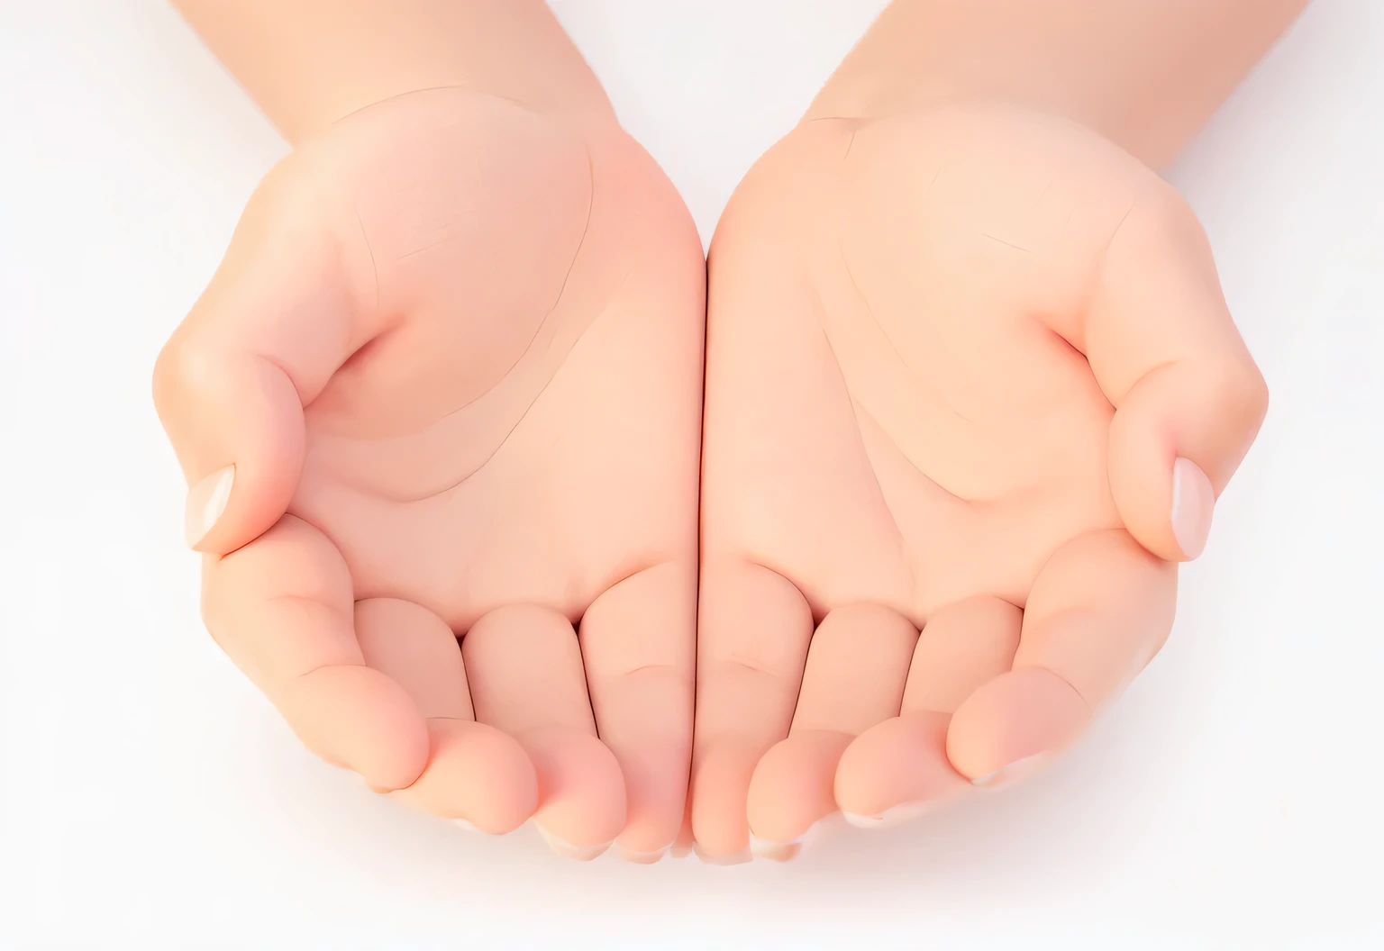
[[[209,630],[372,788],[657,858],[692,726],[685,207],[541,3],[183,8],[295,144],[155,370]]]

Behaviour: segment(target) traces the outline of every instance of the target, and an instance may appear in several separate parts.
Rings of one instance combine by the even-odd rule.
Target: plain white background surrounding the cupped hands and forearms
[[[559,11],[709,238],[880,6]],[[318,764],[202,630],[148,375],[285,147],[161,3],[0,0],[0,947],[1381,947],[1381,51],[1318,0],[1172,171],[1273,408],[1089,740],[786,867],[569,865]]]

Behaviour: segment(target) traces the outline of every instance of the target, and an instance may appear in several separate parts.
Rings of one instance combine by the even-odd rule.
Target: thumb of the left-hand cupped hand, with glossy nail
[[[191,487],[187,543],[201,552],[233,552],[284,514],[303,467],[303,406],[360,346],[340,231],[291,162],[251,198],[154,368],[154,404]]]

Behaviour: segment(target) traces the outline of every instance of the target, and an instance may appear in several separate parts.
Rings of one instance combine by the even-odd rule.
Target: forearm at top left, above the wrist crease
[[[443,86],[609,115],[543,0],[173,0],[289,141]]]

